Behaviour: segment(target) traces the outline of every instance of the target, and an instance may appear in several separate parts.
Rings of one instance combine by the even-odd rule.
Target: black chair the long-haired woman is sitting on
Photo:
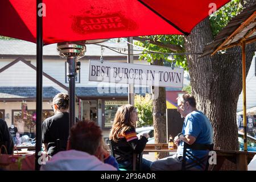
[[[118,142],[109,140],[109,144],[110,144],[111,154],[119,163],[119,168],[133,169],[133,171],[135,171],[136,169],[141,170],[142,152],[141,154],[136,154],[134,150],[130,150],[127,152],[121,150],[122,147],[130,146],[129,143],[124,142],[122,140],[119,140]]]

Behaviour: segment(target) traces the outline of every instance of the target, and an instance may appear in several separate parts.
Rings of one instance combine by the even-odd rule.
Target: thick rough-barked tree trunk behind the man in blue
[[[187,52],[203,52],[204,46],[211,42],[212,32],[209,19],[203,20],[185,37]],[[246,50],[255,49],[255,43]],[[234,47],[228,51],[235,53],[205,56],[187,56],[192,94],[197,101],[197,109],[203,111],[213,126],[214,148],[239,150],[236,110],[238,97],[242,91],[242,50]],[[246,75],[254,52],[246,52]],[[225,162],[222,169],[236,169],[234,164]]]

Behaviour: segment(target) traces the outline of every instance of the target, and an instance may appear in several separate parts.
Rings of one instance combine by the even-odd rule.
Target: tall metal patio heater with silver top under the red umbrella
[[[57,43],[57,51],[59,51],[60,57],[67,59],[68,63],[68,80],[69,80],[69,129],[75,125],[75,102],[76,102],[76,76],[77,71],[80,69],[81,57],[85,56],[86,46],[85,44],[102,43],[109,39],[97,39],[97,40],[82,40],[77,42],[64,42]]]

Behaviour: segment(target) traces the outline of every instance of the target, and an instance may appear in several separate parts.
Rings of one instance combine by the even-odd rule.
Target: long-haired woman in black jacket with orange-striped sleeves
[[[136,154],[140,154],[144,147],[146,146],[147,139],[149,135],[144,133],[141,139],[138,139],[135,125],[138,120],[137,109],[130,105],[123,105],[118,108],[115,114],[114,123],[110,131],[109,139],[112,140],[117,146],[120,147],[121,153],[129,153],[129,151],[134,151]],[[129,157],[119,158],[117,156],[117,162],[119,163],[119,168],[131,169],[133,165],[133,152],[129,153]],[[141,169],[144,171],[149,171],[151,166],[150,161],[142,159]]]

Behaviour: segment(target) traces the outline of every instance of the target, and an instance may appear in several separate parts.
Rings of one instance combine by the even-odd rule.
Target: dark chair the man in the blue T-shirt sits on
[[[192,145],[189,145],[184,142],[181,170],[186,171],[188,169],[192,169],[193,167],[200,167],[201,169],[208,171],[210,156],[205,155],[203,158],[198,158],[197,156],[193,155],[192,152],[189,151],[188,149],[212,151],[213,146],[214,146],[213,143],[212,144],[194,143]]]

